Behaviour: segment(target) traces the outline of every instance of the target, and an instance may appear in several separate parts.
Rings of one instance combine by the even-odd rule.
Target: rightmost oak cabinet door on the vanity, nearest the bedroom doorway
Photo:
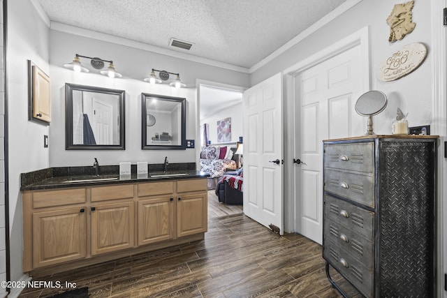
[[[207,193],[177,198],[177,237],[207,231]]]

